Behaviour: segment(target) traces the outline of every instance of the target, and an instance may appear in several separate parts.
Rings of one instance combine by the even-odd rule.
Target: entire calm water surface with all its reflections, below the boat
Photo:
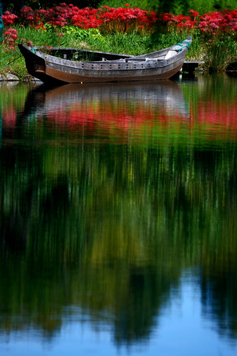
[[[0,89],[0,354],[236,355],[236,78]]]

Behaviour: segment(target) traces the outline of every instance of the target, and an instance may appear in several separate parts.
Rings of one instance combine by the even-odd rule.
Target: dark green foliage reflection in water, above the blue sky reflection
[[[218,83],[167,89],[189,103],[188,111],[184,105],[173,116],[148,98],[140,126],[122,121],[118,134],[115,112],[135,120],[144,107],[144,101],[130,105],[131,89],[124,89],[129,104],[112,100],[107,122],[104,96],[93,105],[91,97],[77,98],[81,111],[60,99],[64,110],[53,105],[51,117],[47,95],[54,91],[32,96],[30,90],[25,108],[9,99],[16,115],[9,125],[3,115],[0,155],[2,331],[33,323],[54,335],[62,307],[79,305],[95,320],[106,311],[116,342],[139,340],[149,336],[171,288],[179,288],[182,271],[198,266],[204,310],[220,333],[236,339],[237,148],[234,117],[229,120],[236,84],[225,83],[221,111],[223,78],[220,91],[203,101],[208,85]],[[160,121],[154,121],[155,108]],[[93,115],[85,121],[81,113],[89,109]],[[142,119],[147,113],[149,122]]]

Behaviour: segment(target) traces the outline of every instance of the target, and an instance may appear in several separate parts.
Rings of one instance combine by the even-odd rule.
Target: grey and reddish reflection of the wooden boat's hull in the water
[[[140,111],[137,111],[140,108]],[[111,84],[68,84],[53,89],[40,85],[30,91],[22,116],[31,119],[50,115],[70,123],[81,119],[109,121],[122,119],[128,114],[131,119],[149,119],[152,109],[162,115],[189,116],[182,89],[171,80]],[[104,114],[102,116],[102,114]],[[70,115],[70,116],[69,116]],[[140,116],[141,115],[141,116]],[[145,117],[146,115],[146,117]],[[126,121],[126,117],[124,118]]]

